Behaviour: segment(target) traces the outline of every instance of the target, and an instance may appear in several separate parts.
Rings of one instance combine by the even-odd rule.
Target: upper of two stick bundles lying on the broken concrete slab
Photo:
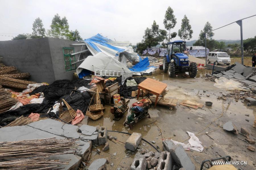
[[[0,142],[0,159],[28,158],[35,156],[49,156],[77,150],[78,139],[45,139],[21,140],[14,142]],[[73,152],[72,152],[73,153]]]

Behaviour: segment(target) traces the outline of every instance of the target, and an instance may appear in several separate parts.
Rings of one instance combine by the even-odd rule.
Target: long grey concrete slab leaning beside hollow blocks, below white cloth
[[[172,159],[179,168],[183,167],[186,170],[195,170],[195,165],[180,144],[175,145],[171,140],[164,140],[163,144],[164,150],[171,153]]]

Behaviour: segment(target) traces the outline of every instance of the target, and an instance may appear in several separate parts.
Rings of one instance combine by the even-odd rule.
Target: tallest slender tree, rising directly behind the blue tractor
[[[174,37],[176,37],[177,33],[171,33],[171,29],[175,27],[177,23],[177,19],[175,18],[175,15],[173,14],[173,9],[169,6],[165,12],[164,15],[164,28],[169,31],[169,39],[168,42]]]

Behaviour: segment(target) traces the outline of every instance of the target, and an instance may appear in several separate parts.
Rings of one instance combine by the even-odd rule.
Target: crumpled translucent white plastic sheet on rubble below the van
[[[225,89],[225,90],[238,90],[238,91],[250,91],[249,88],[244,87],[243,84],[234,81],[232,79],[227,79],[225,77],[220,77],[215,79],[214,87]]]

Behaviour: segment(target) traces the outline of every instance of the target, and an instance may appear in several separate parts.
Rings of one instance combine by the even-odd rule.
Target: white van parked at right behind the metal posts
[[[207,62],[215,62],[215,65],[226,64],[227,66],[231,63],[230,56],[225,52],[210,52],[207,56]]]

